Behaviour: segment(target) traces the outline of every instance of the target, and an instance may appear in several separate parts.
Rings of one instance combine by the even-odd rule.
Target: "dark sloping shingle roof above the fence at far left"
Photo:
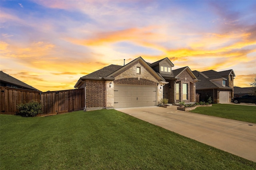
[[[26,84],[26,83],[14,78],[14,77],[10,76],[9,74],[6,74],[2,71],[0,71],[0,81],[11,84],[13,86],[18,86],[18,88],[40,91],[40,90],[38,90],[38,89],[36,89],[36,88]]]

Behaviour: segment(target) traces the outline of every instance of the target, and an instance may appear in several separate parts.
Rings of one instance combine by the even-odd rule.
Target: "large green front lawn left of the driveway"
[[[0,149],[1,170],[256,169],[256,162],[113,109],[0,115]]]

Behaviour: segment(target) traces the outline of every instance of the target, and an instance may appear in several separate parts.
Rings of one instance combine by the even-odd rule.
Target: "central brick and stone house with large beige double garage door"
[[[81,77],[75,88],[84,88],[84,110],[157,106],[162,98],[169,103],[196,101],[198,81],[190,68],[172,70],[168,59],[146,63],[142,57],[119,66],[109,65]]]

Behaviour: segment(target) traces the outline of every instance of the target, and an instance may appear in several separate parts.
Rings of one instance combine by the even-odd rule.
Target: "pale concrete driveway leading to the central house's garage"
[[[256,124],[177,110],[177,106],[116,109],[201,143],[256,162]]]

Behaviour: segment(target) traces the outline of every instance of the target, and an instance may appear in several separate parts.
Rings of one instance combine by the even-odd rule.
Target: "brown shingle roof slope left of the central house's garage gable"
[[[115,72],[116,70],[119,70],[122,67],[123,66],[111,64],[111,65],[106,66],[106,67],[104,67],[104,68],[102,68],[100,70],[97,70],[95,72],[92,72],[90,74],[82,76],[82,78],[101,78],[101,77],[106,77],[106,76],[110,75],[111,73]]]

